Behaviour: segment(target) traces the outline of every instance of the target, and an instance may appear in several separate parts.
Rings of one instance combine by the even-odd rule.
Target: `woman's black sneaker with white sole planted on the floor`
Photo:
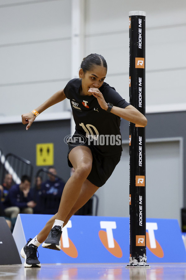
[[[38,247],[33,244],[28,246],[31,240],[32,238],[30,238],[27,244],[21,249],[21,257],[25,259],[24,267],[41,267],[40,261],[38,260],[39,254],[37,257]]]

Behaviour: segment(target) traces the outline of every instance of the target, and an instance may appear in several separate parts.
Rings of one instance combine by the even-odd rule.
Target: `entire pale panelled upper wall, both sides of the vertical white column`
[[[33,110],[71,78],[71,0],[0,0],[0,114]],[[85,54],[129,100],[128,12],[146,12],[146,111],[186,110],[186,1],[85,0]],[[78,71],[78,69],[77,69]],[[65,102],[43,114],[69,109]],[[167,109],[168,108],[168,109]],[[174,109],[173,109],[174,110]]]

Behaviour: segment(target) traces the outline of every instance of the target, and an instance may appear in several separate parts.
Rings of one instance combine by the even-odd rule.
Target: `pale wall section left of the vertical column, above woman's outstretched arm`
[[[1,0],[0,18],[0,114],[21,115],[71,77],[71,1]]]

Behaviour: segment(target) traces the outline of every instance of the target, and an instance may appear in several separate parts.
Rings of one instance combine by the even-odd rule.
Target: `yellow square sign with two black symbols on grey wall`
[[[36,144],[36,165],[54,164],[54,143]]]

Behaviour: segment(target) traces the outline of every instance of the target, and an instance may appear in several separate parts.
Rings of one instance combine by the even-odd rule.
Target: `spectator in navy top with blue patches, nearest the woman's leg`
[[[42,198],[44,200],[45,209],[43,214],[55,214],[58,211],[61,195],[65,183],[55,177],[57,172],[53,166],[48,169],[48,180],[41,185]]]

